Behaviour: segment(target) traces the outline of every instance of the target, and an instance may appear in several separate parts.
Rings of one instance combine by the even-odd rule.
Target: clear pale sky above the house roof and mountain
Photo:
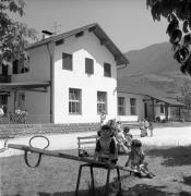
[[[138,50],[168,41],[167,22],[154,22],[146,0],[24,0],[22,21],[38,32],[64,33],[98,23],[122,51]],[[55,28],[55,26],[58,26]]]

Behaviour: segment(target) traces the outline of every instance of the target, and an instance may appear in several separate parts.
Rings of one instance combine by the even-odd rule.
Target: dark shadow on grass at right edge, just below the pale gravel
[[[191,146],[178,146],[169,148],[155,148],[146,151],[150,157],[163,157],[162,163],[166,167],[189,166],[191,164]]]

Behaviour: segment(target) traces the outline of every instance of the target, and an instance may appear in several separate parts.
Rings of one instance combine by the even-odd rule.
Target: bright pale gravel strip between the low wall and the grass
[[[154,128],[154,136],[151,137],[150,133],[147,137],[140,137],[140,130],[131,130],[131,133],[135,138],[142,140],[143,145],[154,145],[154,146],[187,146],[191,145],[191,126],[182,127],[156,127]],[[76,149],[77,148],[77,137],[79,136],[88,136],[95,135],[95,132],[86,133],[72,133],[72,134],[49,134],[45,135],[50,145],[47,148],[48,150],[62,150],[62,149]],[[31,136],[27,137],[15,137],[9,139],[8,144],[21,144],[28,145]],[[34,147],[43,148],[46,146],[47,140],[44,138],[36,138],[33,140]],[[3,147],[3,140],[0,140],[0,148]],[[0,154],[0,157],[9,157],[14,155],[22,155],[23,151],[15,149],[7,149]]]

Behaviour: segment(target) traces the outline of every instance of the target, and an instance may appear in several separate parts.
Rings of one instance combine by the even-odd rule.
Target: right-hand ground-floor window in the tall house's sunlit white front
[[[97,113],[102,112],[107,113],[107,93],[106,91],[97,91]]]

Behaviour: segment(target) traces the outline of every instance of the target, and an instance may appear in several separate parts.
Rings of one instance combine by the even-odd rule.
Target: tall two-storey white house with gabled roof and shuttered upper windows
[[[29,63],[13,62],[8,111],[27,109],[28,122],[91,123],[117,117],[117,66],[129,61],[98,24],[53,35],[27,48]]]

